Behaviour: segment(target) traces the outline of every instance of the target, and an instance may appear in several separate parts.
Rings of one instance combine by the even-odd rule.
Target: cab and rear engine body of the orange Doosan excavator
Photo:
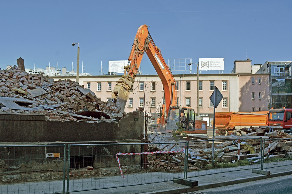
[[[189,107],[171,106],[166,120],[166,131],[181,129],[190,134],[207,134],[207,121],[196,116],[194,109]]]

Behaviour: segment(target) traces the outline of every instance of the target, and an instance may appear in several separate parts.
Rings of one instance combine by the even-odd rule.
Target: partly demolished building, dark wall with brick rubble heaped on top
[[[143,112],[120,112],[78,82],[16,66],[0,70],[0,108],[1,142],[143,139]]]

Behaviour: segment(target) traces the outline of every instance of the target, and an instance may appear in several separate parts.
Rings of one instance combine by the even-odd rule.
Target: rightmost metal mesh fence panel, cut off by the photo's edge
[[[292,139],[266,139],[263,147],[263,169],[292,165]]]

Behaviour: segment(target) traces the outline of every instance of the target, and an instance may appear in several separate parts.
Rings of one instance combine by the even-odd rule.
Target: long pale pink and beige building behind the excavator
[[[223,95],[216,112],[256,112],[267,111],[269,104],[269,74],[251,65],[251,60],[235,61],[230,74],[199,74],[200,116],[208,122],[213,120],[214,107],[210,96],[214,86]],[[252,70],[253,69],[253,70]],[[94,92],[97,98],[107,101],[111,98],[116,80],[121,75],[79,76],[80,85]],[[196,74],[174,75],[176,80],[176,102],[179,106],[190,106],[197,112]],[[57,79],[54,77],[54,79]],[[66,77],[75,80],[75,77]],[[158,75],[139,75],[130,92],[125,112],[139,107],[145,108],[147,115],[154,115],[150,123],[156,123],[163,104],[163,86]]]

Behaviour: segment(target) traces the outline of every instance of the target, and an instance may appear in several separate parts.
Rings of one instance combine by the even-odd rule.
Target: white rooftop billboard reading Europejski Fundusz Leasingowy
[[[224,58],[199,59],[199,70],[224,70]]]

